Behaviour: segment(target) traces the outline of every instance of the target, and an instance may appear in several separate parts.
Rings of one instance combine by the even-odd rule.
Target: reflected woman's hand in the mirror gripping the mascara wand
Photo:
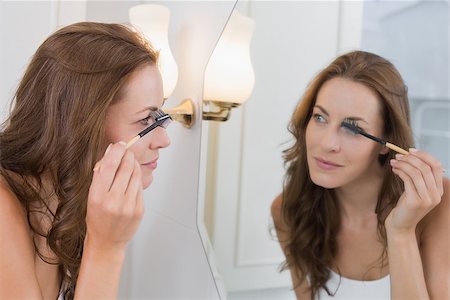
[[[388,232],[414,233],[422,218],[441,201],[443,169],[428,153],[410,149],[391,160],[392,172],[404,182],[405,191],[386,218]]]

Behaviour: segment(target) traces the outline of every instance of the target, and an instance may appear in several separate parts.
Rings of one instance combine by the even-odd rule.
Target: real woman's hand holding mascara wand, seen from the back
[[[124,249],[143,213],[141,167],[125,143],[111,144],[89,189],[86,241],[97,249]]]

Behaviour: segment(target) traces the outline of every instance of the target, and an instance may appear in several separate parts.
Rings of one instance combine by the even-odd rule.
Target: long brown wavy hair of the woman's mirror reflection
[[[340,229],[339,204],[332,189],[311,181],[306,159],[305,131],[311,118],[317,94],[322,85],[335,77],[350,79],[372,89],[382,105],[384,137],[402,148],[413,146],[410,127],[407,88],[397,69],[386,59],[364,51],[354,51],[336,58],[308,85],[290,120],[288,130],[294,144],[284,154],[287,167],[281,217],[288,228],[286,261],[282,269],[297,273],[300,284],[307,280],[311,295],[326,286],[337,254],[336,236]],[[386,258],[384,221],[403,192],[403,182],[392,173],[388,162],[391,151],[380,155],[378,163],[384,168],[378,195],[376,214],[378,234],[384,245],[380,260]]]

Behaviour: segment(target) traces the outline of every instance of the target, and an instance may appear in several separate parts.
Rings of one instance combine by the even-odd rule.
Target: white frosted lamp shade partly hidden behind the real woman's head
[[[155,4],[141,4],[130,8],[131,24],[160,51],[159,67],[164,86],[164,98],[172,94],[178,80],[178,68],[169,46],[170,11]]]

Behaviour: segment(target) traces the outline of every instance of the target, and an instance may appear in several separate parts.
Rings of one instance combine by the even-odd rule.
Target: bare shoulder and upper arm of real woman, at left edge
[[[0,298],[39,298],[35,252],[22,205],[0,176]],[[26,289],[18,286],[26,282]]]

